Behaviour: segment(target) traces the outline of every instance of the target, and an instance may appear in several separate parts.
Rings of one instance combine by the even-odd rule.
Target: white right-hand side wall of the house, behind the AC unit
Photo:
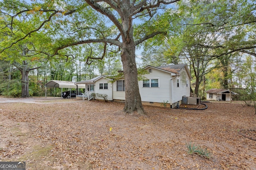
[[[177,79],[179,79],[179,87],[177,87]],[[180,70],[180,76],[172,79],[172,103],[182,100],[182,96],[190,96],[190,78],[185,67]]]

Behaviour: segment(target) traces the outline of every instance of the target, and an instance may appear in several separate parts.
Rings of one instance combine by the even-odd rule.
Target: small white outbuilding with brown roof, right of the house
[[[230,101],[230,91],[226,89],[218,89],[212,88],[206,92],[206,100],[222,100],[222,101]],[[237,93],[231,92],[231,100],[232,96]]]

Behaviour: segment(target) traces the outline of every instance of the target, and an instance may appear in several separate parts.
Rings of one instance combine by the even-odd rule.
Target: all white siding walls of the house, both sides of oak
[[[168,101],[167,103],[172,105],[182,100],[182,96],[190,96],[190,77],[186,69],[180,71],[180,76],[173,78],[174,75],[176,74],[152,68],[152,72],[145,74],[144,77],[158,79],[158,87],[143,87],[143,81],[138,81],[142,102],[163,103]],[[179,87],[177,87],[177,79],[180,81]],[[100,89],[100,83],[108,83],[108,90]],[[117,91],[116,81],[112,84],[109,80],[101,78],[96,81],[94,91],[99,94],[107,94],[108,100],[125,100],[125,92]]]

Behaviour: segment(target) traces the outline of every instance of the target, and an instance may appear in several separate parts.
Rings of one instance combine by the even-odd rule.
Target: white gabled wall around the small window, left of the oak
[[[100,83],[108,83],[108,89],[100,89]],[[100,80],[97,80],[95,82],[95,86],[94,86],[94,93],[98,93],[98,94],[106,94],[108,95],[108,100],[113,100],[113,96],[112,96],[112,83],[109,82],[108,79],[105,78],[101,78]],[[101,100],[104,100],[104,98],[98,98]]]

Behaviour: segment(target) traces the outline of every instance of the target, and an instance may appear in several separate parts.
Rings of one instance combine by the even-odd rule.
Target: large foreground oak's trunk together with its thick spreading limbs
[[[54,55],[58,53],[58,50],[64,49],[66,47],[85,44],[85,43],[104,43],[104,50],[101,57],[93,57],[89,55],[87,57],[87,64],[89,59],[103,59],[103,57],[107,53],[108,45],[115,45],[119,49],[122,49],[121,59],[123,64],[123,72],[125,79],[125,107],[124,111],[126,113],[132,113],[137,111],[140,114],[144,113],[144,109],[142,107],[142,102],[140,98],[140,92],[138,87],[138,73],[135,61],[135,47],[140,43],[150,39],[158,34],[165,34],[166,30],[164,28],[159,28],[159,30],[154,31],[146,31],[145,33],[138,33],[136,35],[136,41],[134,41],[134,31],[133,31],[133,19],[134,18],[143,18],[150,17],[152,18],[157,9],[160,9],[161,4],[168,5],[179,0],[172,1],[130,1],[130,0],[120,0],[120,1],[104,1],[102,4],[100,1],[95,0],[85,0],[85,2],[91,6],[94,10],[99,12],[100,14],[106,16],[110,21],[112,21],[113,25],[116,27],[116,35],[115,38],[112,36],[105,37],[104,32],[102,34],[91,35],[95,36],[95,39],[85,39],[81,41],[76,41],[68,44],[64,44],[54,51]],[[106,4],[108,5],[106,5]],[[72,14],[74,11],[67,12],[67,15]],[[91,28],[94,30],[98,30],[99,28]],[[98,30],[100,32],[100,30]],[[96,31],[97,32],[97,31]],[[140,31],[139,31],[140,32]],[[100,36],[99,36],[100,35]],[[140,37],[140,38],[138,38]],[[116,52],[118,52],[116,51]]]

